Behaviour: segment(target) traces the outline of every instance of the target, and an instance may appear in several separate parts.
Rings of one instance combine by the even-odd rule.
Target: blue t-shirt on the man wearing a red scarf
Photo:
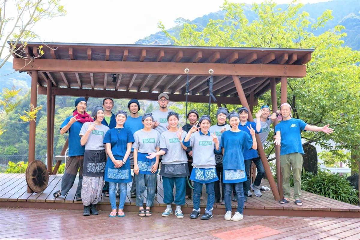
[[[72,118],[72,117],[73,116],[70,116],[65,119],[63,124],[61,124],[60,130],[61,130],[61,128],[65,127],[66,124],[68,124],[70,122],[70,118]],[[79,136],[81,127],[82,127],[82,123],[79,121],[76,121],[70,126],[70,128],[68,130],[68,132],[69,132],[69,157],[84,155],[85,146],[81,146],[81,144],[80,144],[81,137]]]

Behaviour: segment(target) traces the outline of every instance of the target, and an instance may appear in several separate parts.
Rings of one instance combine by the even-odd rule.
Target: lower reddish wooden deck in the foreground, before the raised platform
[[[78,204],[80,205],[80,204]],[[215,215],[208,221],[174,215],[140,218],[82,216],[82,210],[0,208],[0,239],[360,239],[360,219],[244,216],[239,222]]]

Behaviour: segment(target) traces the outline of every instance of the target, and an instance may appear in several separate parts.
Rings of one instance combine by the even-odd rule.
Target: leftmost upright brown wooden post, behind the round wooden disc
[[[37,104],[37,71],[34,70],[31,72],[31,95],[30,103],[36,108]],[[35,160],[35,132],[36,132],[36,118],[34,121],[30,122],[29,126],[29,160],[28,163],[31,163]],[[33,191],[30,187],[27,187],[27,192],[32,193]]]

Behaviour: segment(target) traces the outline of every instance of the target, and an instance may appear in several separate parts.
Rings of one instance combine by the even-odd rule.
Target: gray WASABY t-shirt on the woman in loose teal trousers
[[[186,132],[181,133],[181,139],[184,139]],[[176,132],[165,131],[160,136],[160,149],[167,148],[167,153],[162,156],[163,164],[187,163],[186,152],[181,146]]]

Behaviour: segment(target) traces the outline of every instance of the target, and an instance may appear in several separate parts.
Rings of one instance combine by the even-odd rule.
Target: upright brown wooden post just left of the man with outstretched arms
[[[276,98],[276,82],[275,78],[270,78],[270,89],[271,89],[271,103],[273,112],[278,110],[278,99]],[[274,122],[274,129],[276,124],[278,124],[278,120],[276,119]],[[280,196],[283,196],[283,175],[281,173],[281,167],[280,167],[280,146],[275,145],[275,162],[276,162],[276,178],[278,182],[278,190]]]

